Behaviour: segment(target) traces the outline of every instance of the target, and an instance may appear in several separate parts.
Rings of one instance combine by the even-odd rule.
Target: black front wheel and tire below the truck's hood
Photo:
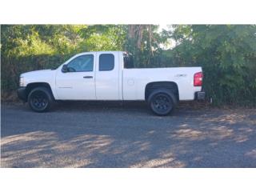
[[[39,86],[30,91],[28,103],[31,110],[42,113],[51,109],[54,98],[49,89]]]

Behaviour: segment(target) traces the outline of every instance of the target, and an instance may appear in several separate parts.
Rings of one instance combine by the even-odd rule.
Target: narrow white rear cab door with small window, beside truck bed
[[[118,52],[97,53],[96,98],[119,100]]]

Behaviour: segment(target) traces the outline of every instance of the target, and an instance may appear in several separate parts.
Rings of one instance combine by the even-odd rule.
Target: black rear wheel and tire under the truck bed
[[[158,89],[152,91],[148,98],[150,109],[159,116],[173,112],[178,100],[171,90]]]

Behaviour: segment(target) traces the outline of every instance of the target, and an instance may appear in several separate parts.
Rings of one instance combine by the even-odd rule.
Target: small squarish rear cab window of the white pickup
[[[99,56],[98,69],[113,70],[114,69],[114,54],[101,54]]]

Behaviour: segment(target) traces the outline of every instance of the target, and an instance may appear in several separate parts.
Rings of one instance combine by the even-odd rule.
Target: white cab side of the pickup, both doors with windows
[[[120,100],[118,52],[75,55],[58,67],[56,98],[61,100]],[[63,67],[64,66],[64,67]]]

